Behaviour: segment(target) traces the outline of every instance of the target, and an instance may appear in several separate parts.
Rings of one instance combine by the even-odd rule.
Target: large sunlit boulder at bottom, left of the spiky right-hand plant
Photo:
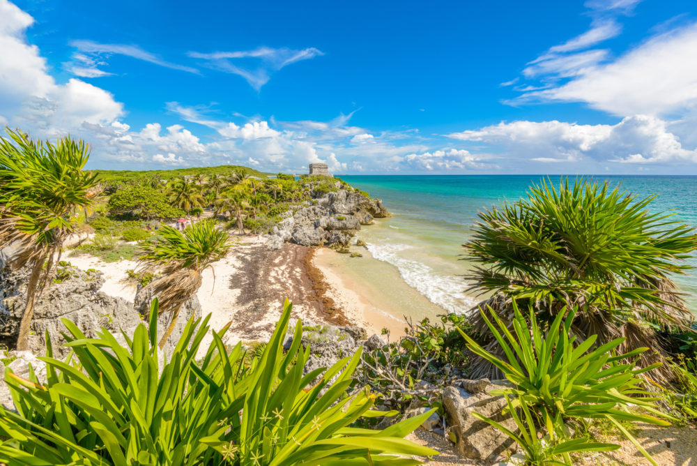
[[[494,381],[484,391],[473,395],[454,385],[443,391],[443,407],[448,423],[457,436],[457,449],[467,458],[496,461],[507,450],[514,453],[514,442],[510,437],[472,415],[477,412],[515,432],[516,424],[511,416],[502,414],[505,399],[489,393],[509,387],[507,381]]]

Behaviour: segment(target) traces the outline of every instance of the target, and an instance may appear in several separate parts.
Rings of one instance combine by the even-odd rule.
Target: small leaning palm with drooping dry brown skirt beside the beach
[[[160,339],[160,350],[174,331],[181,307],[199,290],[201,274],[213,262],[221,260],[232,247],[227,232],[218,230],[215,221],[202,220],[178,232],[164,225],[159,232],[162,240],[144,247],[138,261],[141,271],[159,269],[162,277],[148,283],[160,300],[159,314],[171,313],[171,323]]]

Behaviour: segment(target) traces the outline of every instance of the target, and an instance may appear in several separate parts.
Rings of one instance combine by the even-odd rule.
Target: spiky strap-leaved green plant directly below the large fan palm
[[[530,310],[529,327],[515,302],[513,310],[513,332],[491,308],[489,313],[496,325],[484,311],[481,313],[482,320],[505,353],[505,359],[487,352],[459,330],[467,340],[468,348],[500,369],[513,384],[512,389],[492,391],[491,394],[514,396],[515,407],[526,405],[539,413],[547,432],[558,437],[565,436],[568,422],[608,419],[653,463],[641,444],[620,423],[631,421],[669,425],[656,416],[638,414],[629,409],[629,406],[634,406],[635,409],[667,417],[657,409],[657,398],[641,389],[643,381],[637,377],[660,365],[655,363],[647,368],[635,368],[636,356],[648,348],[614,354],[624,338],[615,338],[595,348],[595,335],[577,342],[576,336],[569,336],[576,310],[566,313],[562,309],[544,333],[537,324],[534,310]]]

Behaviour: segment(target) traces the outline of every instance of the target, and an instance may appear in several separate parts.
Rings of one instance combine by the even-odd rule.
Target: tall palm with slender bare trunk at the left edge
[[[0,246],[13,250],[13,269],[31,268],[17,336],[21,351],[29,342],[36,298],[60,260],[63,241],[77,227],[73,216],[92,203],[97,174],[84,172],[90,149],[82,140],[63,137],[51,144],[19,130],[7,133],[9,138],[0,138]]]

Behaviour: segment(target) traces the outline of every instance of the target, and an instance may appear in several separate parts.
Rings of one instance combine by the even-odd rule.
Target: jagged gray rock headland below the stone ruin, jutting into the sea
[[[361,225],[390,215],[380,200],[345,189],[339,181],[336,184],[339,190],[287,212],[268,236],[268,246],[279,249],[291,241],[301,246],[347,248]]]

